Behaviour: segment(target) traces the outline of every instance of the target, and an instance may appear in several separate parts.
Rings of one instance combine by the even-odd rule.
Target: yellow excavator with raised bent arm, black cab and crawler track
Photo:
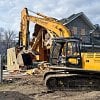
[[[100,84],[100,53],[95,51],[82,51],[81,40],[70,35],[69,30],[56,19],[36,13],[37,16],[28,14],[27,8],[21,13],[21,29],[19,34],[19,51],[23,54],[32,54],[32,50],[42,47],[41,41],[44,34],[35,34],[35,41],[32,41],[31,49],[29,39],[29,22],[46,29],[52,38],[50,46],[50,69],[53,71],[44,74],[45,85],[49,89],[61,89],[65,87],[94,86]],[[38,29],[37,29],[38,30]],[[41,48],[40,48],[41,49]],[[41,52],[41,50],[39,51]],[[45,53],[44,53],[45,54]],[[35,55],[35,52],[33,52]],[[28,62],[29,56],[22,58]],[[15,62],[13,62],[15,64]],[[26,64],[27,65],[27,64]],[[85,80],[84,80],[85,79]],[[81,83],[81,86],[79,85]]]

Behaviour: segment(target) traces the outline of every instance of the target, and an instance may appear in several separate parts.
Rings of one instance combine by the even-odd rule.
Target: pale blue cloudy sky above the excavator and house
[[[24,7],[57,19],[84,12],[93,24],[100,24],[100,0],[0,0],[0,27],[19,31]]]

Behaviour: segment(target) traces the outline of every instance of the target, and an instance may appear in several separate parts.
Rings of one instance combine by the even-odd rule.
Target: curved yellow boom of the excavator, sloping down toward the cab
[[[29,16],[28,20],[46,28],[47,30],[54,32],[55,36],[57,37],[69,37],[70,36],[69,30],[57,21],[49,21],[45,18],[39,18],[35,16]]]

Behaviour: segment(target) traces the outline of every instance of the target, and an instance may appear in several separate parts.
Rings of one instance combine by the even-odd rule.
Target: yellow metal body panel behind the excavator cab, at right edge
[[[100,53],[83,53],[82,62],[83,69],[100,71]]]

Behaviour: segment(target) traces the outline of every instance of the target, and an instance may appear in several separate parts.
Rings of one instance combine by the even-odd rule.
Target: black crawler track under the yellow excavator
[[[65,70],[49,71],[44,75],[50,90],[100,90],[100,77],[89,74],[72,74]]]

